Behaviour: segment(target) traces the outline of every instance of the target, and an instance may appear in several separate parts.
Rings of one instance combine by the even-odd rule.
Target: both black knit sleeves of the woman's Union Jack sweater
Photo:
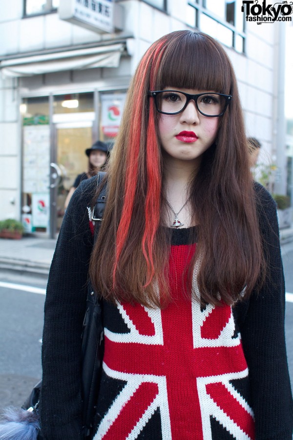
[[[81,331],[93,238],[87,206],[96,177],[83,181],[66,210],[51,264],[42,344],[42,435],[82,440]],[[291,440],[293,401],[287,366],[285,286],[275,203],[255,184],[268,270],[261,291],[234,307],[249,367],[256,440]],[[120,439],[118,439],[120,440]],[[121,439],[122,440],[122,439]]]

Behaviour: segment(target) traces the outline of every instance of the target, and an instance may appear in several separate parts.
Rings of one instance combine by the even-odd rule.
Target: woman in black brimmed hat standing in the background
[[[87,148],[85,150],[85,154],[88,156],[87,171],[85,173],[79,174],[76,177],[72,187],[67,194],[64,203],[64,209],[67,209],[70,199],[78,185],[83,180],[96,176],[99,171],[103,170],[109,155],[108,146],[107,144],[105,144],[105,142],[97,141],[91,146],[91,148]]]

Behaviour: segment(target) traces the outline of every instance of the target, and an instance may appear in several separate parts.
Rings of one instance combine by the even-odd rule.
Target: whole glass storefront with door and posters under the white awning
[[[54,236],[59,230],[68,191],[88,168],[85,150],[97,138],[114,141],[125,97],[125,91],[111,90],[22,100],[21,215],[27,233]]]

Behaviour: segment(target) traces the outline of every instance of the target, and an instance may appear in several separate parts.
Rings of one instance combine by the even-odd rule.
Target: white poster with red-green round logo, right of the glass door
[[[115,137],[118,133],[125,102],[125,93],[101,95],[102,131],[107,137]]]

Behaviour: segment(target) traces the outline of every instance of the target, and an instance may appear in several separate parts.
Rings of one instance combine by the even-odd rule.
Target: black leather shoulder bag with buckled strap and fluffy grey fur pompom
[[[99,185],[105,172],[99,172]],[[91,216],[95,221],[94,241],[97,238],[103,219],[106,201],[106,185],[103,186]],[[99,392],[99,381],[103,359],[104,330],[101,320],[102,303],[99,296],[88,286],[86,311],[82,331],[82,399],[83,399],[83,435],[92,436],[92,421]],[[42,440],[40,432],[39,402],[42,392],[42,380],[32,389],[21,408],[7,408],[0,422],[0,440]]]

